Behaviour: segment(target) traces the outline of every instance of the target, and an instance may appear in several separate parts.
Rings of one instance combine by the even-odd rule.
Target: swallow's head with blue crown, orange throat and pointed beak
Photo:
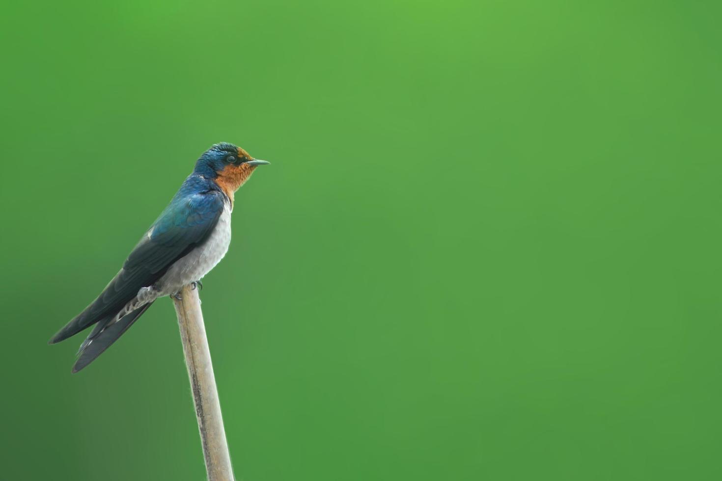
[[[253,159],[240,147],[221,142],[201,155],[193,172],[214,180],[232,201],[233,193],[251,177],[253,170],[266,164],[269,162]]]

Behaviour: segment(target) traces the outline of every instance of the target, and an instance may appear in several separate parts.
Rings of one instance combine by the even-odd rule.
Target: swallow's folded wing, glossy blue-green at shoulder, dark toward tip
[[[174,198],[100,296],[59,330],[50,343],[58,343],[117,314],[140,288],[152,286],[173,262],[205,242],[218,223],[224,199],[215,190]]]

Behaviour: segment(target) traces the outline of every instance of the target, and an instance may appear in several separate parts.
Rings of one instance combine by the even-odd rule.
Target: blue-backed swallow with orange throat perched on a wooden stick
[[[180,299],[183,287],[202,287],[201,279],[228,251],[235,191],[269,163],[227,142],[201,154],[108,286],[48,341],[59,343],[95,325],[80,345],[73,373],[95,361],[157,299]]]

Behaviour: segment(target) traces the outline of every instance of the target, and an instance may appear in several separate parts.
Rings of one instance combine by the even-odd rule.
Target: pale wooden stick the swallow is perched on
[[[198,289],[184,287],[181,300],[173,298],[173,304],[175,313],[178,314],[178,327],[181,329],[183,356],[186,356],[188,378],[191,380],[193,405],[196,406],[208,480],[233,481],[235,478],[223,429],[221,405],[213,376],[211,351],[208,348]]]

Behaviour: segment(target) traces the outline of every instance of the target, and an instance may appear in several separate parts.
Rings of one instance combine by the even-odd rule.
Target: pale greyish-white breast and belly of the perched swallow
[[[223,256],[230,245],[230,206],[223,208],[218,224],[204,244],[177,260],[168,272],[160,278],[157,286],[163,294],[175,294],[187,284],[199,281],[209,273]]]

